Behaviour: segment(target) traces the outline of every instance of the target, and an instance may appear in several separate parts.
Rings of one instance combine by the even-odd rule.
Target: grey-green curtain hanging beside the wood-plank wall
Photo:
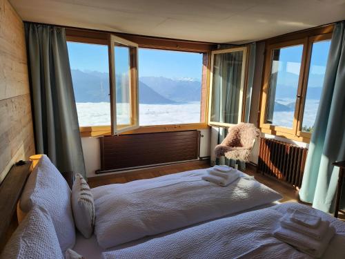
[[[24,23],[36,152],[86,176],[64,28]]]

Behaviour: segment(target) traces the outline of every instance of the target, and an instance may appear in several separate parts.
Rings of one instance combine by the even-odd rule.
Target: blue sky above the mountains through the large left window
[[[117,60],[125,61],[128,52],[124,48],[115,51]],[[71,69],[108,73],[108,46],[68,42]],[[139,48],[139,77],[154,76],[201,80],[202,54],[170,50]],[[126,62],[124,62],[126,64]],[[117,66],[117,73],[125,68]]]

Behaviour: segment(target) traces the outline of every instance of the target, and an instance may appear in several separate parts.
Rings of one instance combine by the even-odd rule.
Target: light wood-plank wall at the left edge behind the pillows
[[[23,21],[0,0],[0,182],[17,160],[34,154]]]

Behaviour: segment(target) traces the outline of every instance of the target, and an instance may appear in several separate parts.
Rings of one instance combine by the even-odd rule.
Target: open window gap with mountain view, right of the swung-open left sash
[[[200,122],[202,54],[139,48],[139,124]]]

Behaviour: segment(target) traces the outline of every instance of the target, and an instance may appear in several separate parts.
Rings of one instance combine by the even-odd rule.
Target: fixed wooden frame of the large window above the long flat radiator
[[[207,123],[208,115],[208,86],[209,86],[209,71],[210,71],[210,51],[215,48],[215,44],[199,41],[184,41],[175,39],[164,39],[157,37],[144,37],[139,35],[128,35],[124,33],[101,32],[95,30],[84,30],[79,28],[66,28],[66,39],[71,42],[79,42],[86,44],[105,45],[109,48],[110,36],[121,37],[121,39],[128,40],[137,44],[138,48],[151,48],[157,50],[177,50],[184,52],[199,52],[203,54],[202,77],[201,77],[201,107],[200,107],[200,122],[188,124],[166,124],[166,125],[152,125],[152,126],[138,126],[131,130],[119,133],[122,134],[139,134],[139,133],[156,133],[166,131],[188,131],[195,129],[209,128]],[[110,55],[109,55],[110,59]],[[110,64],[109,64],[110,66]],[[139,79],[139,78],[138,78]],[[137,84],[139,87],[139,84]],[[110,86],[111,88],[111,86]],[[138,93],[138,92],[137,92]],[[111,104],[111,102],[110,102]],[[137,107],[139,109],[139,105]],[[112,108],[111,108],[112,111]],[[138,122],[139,122],[139,110]],[[111,116],[112,119],[112,116]],[[99,137],[104,135],[112,135],[111,125],[99,126],[81,126],[79,127],[81,137]]]

